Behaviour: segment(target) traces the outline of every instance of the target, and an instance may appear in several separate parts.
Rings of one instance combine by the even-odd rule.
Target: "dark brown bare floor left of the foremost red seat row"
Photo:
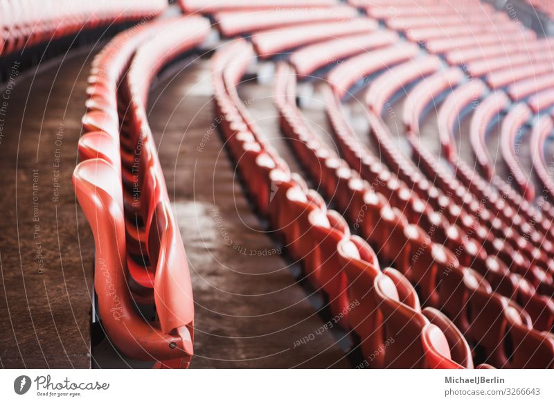
[[[91,365],[93,240],[71,186],[89,51],[0,89],[1,367]]]

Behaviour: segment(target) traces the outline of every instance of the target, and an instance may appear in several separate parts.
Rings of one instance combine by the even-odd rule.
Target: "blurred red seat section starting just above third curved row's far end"
[[[327,64],[340,64],[348,57],[389,46],[397,40],[397,34],[383,30],[349,35],[300,48],[291,55],[289,62],[294,66],[296,75],[301,78],[312,75]]]

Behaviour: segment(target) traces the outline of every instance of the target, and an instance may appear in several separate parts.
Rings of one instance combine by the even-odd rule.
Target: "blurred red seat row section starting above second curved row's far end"
[[[252,35],[251,39],[258,57],[268,59],[298,46],[348,35],[371,33],[377,28],[377,23],[371,19],[356,18],[265,30]]]

